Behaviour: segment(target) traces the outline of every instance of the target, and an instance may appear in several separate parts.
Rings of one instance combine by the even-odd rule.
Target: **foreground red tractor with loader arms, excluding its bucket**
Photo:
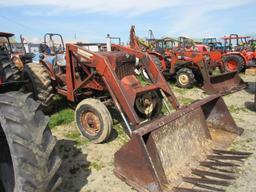
[[[106,107],[109,104],[119,110],[130,132],[131,127],[136,128],[142,121],[160,114],[161,93],[178,108],[150,57],[128,48],[93,52],[84,48],[88,46],[67,44],[64,57],[63,53],[56,54],[51,63],[46,56],[39,64],[26,65],[23,73],[23,79],[31,82],[27,91],[33,91],[45,106],[50,105],[56,93],[77,104],[77,127],[86,138],[95,143],[107,140],[112,129],[112,118]],[[148,64],[146,69],[152,74],[153,84],[142,86],[135,76],[136,58]]]

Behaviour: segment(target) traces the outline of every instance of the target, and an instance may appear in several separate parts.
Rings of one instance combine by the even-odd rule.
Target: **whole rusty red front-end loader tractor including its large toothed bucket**
[[[36,73],[27,77],[33,77],[30,80],[40,95],[55,90],[77,104],[77,127],[94,143],[110,136],[112,117],[106,106],[115,106],[131,137],[115,154],[115,174],[136,190],[192,190],[191,186],[181,186],[185,182],[192,183],[192,187],[210,187],[207,184],[219,184],[216,179],[193,177],[190,170],[220,175],[216,170],[205,170],[203,165],[232,167],[236,166],[233,160],[249,156],[225,151],[243,130],[236,126],[219,95],[181,107],[149,54],[121,45],[105,45],[112,51],[102,48],[97,52],[89,47],[67,44],[65,61],[58,61],[56,56],[53,65],[44,61],[33,64],[41,69],[37,66],[32,72],[41,71],[44,78],[48,72],[44,84]],[[148,74],[147,81],[140,80],[137,68]],[[44,86],[46,90],[42,91]],[[229,184],[225,178],[220,183]]]

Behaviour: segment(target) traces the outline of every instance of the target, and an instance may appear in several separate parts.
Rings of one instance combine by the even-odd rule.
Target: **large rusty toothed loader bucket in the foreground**
[[[247,157],[247,153],[224,150],[242,132],[243,129],[236,126],[223,99],[212,95],[135,130],[131,140],[116,152],[114,172],[140,192],[192,192],[195,190],[190,185],[202,187],[207,182],[227,184],[225,180],[189,176],[193,172],[225,177],[225,174],[199,167],[209,164],[209,169],[218,164],[233,165],[219,160],[206,161],[207,158]]]

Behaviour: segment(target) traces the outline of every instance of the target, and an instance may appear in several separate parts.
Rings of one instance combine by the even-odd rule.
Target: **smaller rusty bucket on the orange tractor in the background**
[[[208,77],[209,79],[204,79],[202,88],[209,95],[226,95],[247,87],[247,84],[240,78],[236,71]]]

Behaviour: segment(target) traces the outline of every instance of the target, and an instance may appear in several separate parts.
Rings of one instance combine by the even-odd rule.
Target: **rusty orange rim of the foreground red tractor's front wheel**
[[[83,129],[87,134],[95,136],[100,132],[101,123],[100,118],[93,112],[86,111],[81,115],[80,118]]]

